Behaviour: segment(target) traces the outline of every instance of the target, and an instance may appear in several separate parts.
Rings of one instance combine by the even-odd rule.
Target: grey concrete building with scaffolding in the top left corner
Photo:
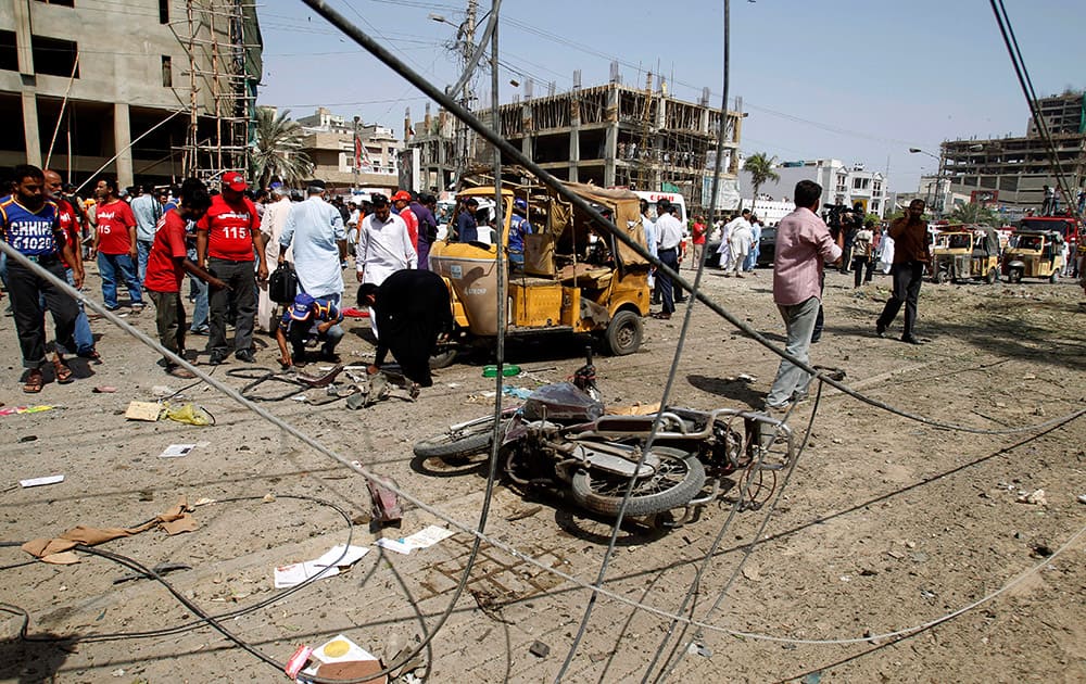
[[[251,0],[0,0],[0,167],[122,186],[243,170],[261,43]]]

